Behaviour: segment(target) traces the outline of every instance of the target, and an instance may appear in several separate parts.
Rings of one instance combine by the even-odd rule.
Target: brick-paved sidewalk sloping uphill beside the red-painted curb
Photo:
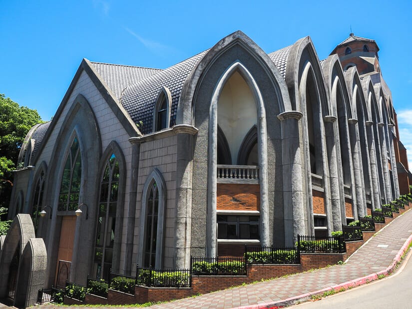
[[[258,305],[262,305],[261,308],[266,308],[264,304],[275,304],[387,269],[411,234],[412,211],[408,211],[371,238],[344,265],[336,265],[268,282],[214,292],[150,308],[215,309],[245,306],[257,309],[260,307]],[[38,306],[38,308],[50,309],[55,308],[55,306],[45,305]]]

